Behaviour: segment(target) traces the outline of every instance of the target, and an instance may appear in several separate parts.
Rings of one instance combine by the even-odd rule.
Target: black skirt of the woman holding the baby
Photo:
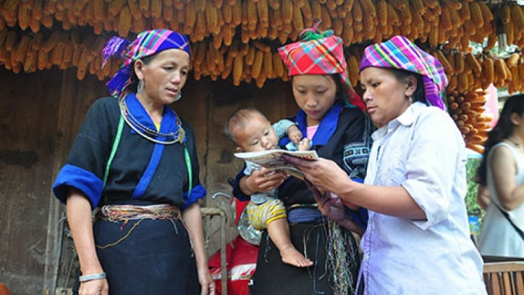
[[[328,230],[326,222],[290,224],[291,240],[297,250],[312,261],[314,265],[308,268],[298,268],[282,262],[279,250],[268,237],[267,231],[263,233],[256,271],[249,287],[251,295],[332,295],[335,294],[333,271],[328,264],[326,242]],[[351,233],[347,232],[349,236]],[[356,285],[358,275],[358,252],[353,236],[347,248],[348,254],[357,259],[357,264],[347,269]],[[350,289],[344,294],[351,294]]]

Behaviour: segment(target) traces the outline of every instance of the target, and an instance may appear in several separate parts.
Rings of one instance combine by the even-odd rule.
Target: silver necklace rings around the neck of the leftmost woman
[[[162,145],[172,145],[173,143],[183,143],[185,137],[185,131],[182,128],[182,121],[180,117],[175,113],[176,122],[177,122],[177,131],[170,132],[168,134],[160,133],[157,130],[153,130],[145,127],[143,124],[140,124],[136,117],[133,117],[133,114],[127,108],[125,98],[118,100],[118,106],[120,109],[120,114],[124,117],[124,121],[133,129],[137,134],[140,134],[143,138],[146,138],[148,141],[154,143],[159,143]],[[159,141],[157,138],[164,138],[164,141]]]

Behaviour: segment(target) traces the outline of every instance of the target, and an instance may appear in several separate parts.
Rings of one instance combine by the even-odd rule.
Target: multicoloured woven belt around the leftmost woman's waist
[[[119,222],[127,220],[177,220],[180,218],[178,207],[162,204],[150,206],[105,205],[96,210],[98,220]]]

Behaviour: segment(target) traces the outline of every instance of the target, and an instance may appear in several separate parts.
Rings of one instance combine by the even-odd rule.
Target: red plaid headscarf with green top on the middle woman
[[[334,36],[333,31],[316,34],[316,26],[304,30],[300,36],[303,41],[284,45],[278,49],[280,57],[288,68],[288,74],[293,76],[338,73],[342,84],[347,89],[344,93],[347,103],[365,110],[363,101],[347,78],[342,39]]]

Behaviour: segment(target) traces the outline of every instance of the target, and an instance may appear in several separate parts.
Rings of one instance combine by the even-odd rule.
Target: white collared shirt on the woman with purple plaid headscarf
[[[451,117],[414,103],[372,138],[365,184],[404,187],[427,220],[370,210],[365,294],[486,294],[464,202],[465,144]]]

